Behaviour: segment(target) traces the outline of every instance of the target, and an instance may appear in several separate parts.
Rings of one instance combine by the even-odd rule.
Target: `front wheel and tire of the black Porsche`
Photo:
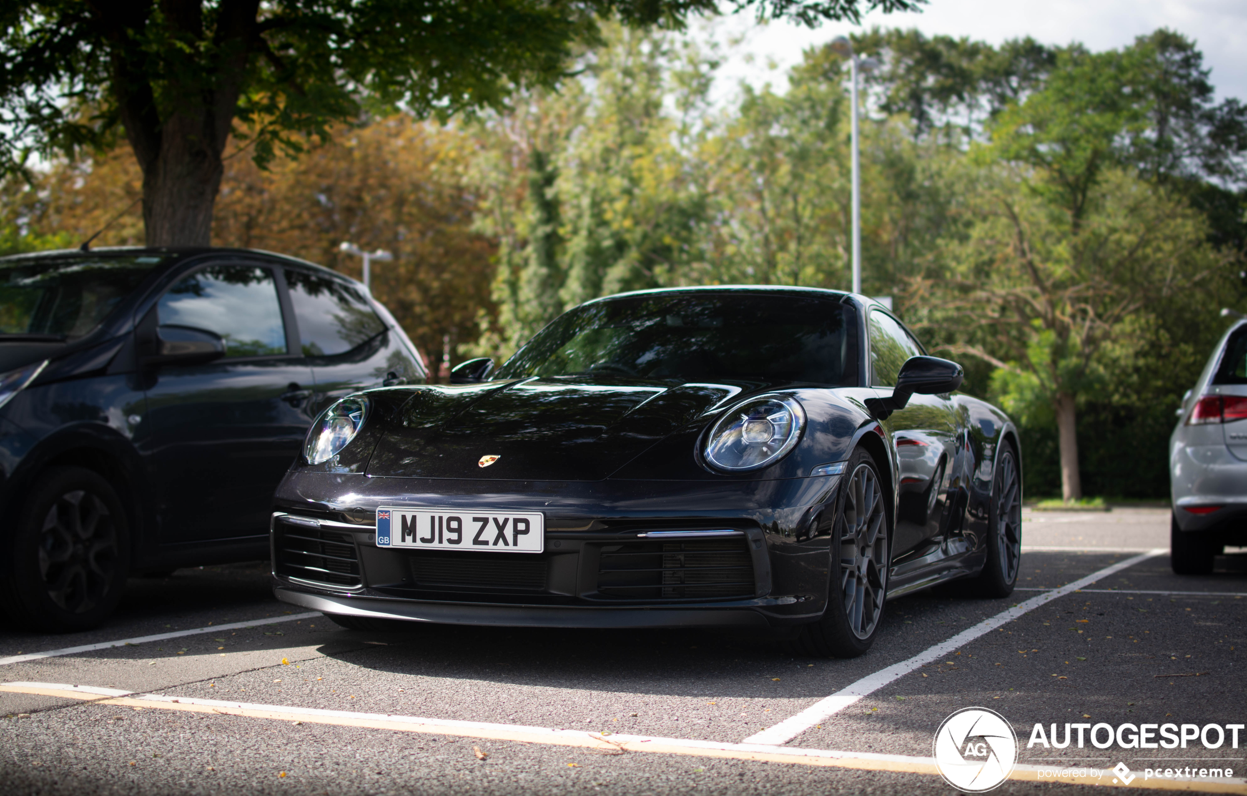
[[[857,658],[874,644],[888,594],[892,528],[874,458],[854,451],[832,519],[827,608],[784,643],[793,654]]]

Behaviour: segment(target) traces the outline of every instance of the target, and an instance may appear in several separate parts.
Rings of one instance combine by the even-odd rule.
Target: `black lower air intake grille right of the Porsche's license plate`
[[[597,593],[616,599],[752,597],[744,538],[628,542],[602,547]]]

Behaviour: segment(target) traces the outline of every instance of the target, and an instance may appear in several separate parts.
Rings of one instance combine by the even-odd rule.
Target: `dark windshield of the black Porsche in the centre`
[[[776,293],[596,301],[557,318],[494,377],[615,374],[840,385],[847,372],[855,374],[852,311],[832,296]]]

